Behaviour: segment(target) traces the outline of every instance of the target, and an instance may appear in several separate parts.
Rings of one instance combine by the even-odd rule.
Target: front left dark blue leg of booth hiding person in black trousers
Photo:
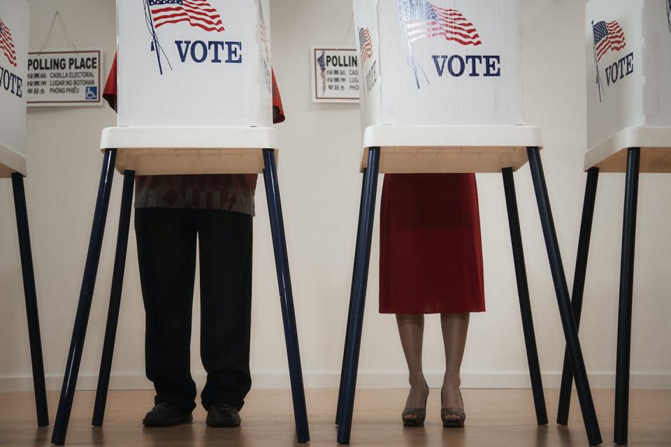
[[[117,149],[106,149],[103,158],[103,168],[100,176],[100,185],[98,187],[96,210],[94,212],[91,237],[89,239],[89,250],[86,256],[84,278],[82,279],[82,288],[79,295],[79,304],[75,316],[70,351],[68,353],[68,361],[66,363],[63,378],[61,397],[58,402],[54,432],[51,438],[52,444],[65,444],[65,437],[68,431],[70,411],[75,397],[79,365],[82,360],[84,339],[86,337],[86,326],[89,321],[93,291],[96,284],[96,274],[98,273],[103,233],[105,233],[105,221],[107,219],[107,209],[110,203],[110,192],[112,190],[116,155]]]

